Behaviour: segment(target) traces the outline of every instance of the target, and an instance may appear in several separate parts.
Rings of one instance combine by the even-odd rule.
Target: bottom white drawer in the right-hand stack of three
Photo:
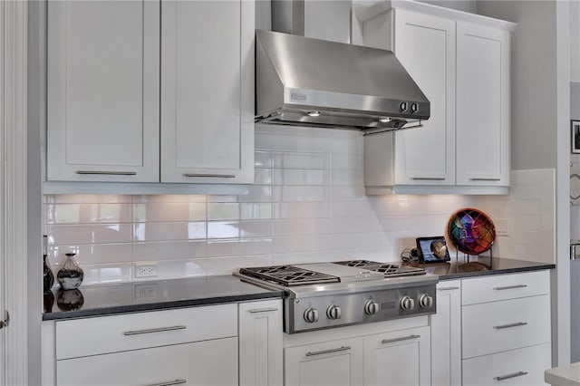
[[[463,361],[463,384],[546,385],[544,371],[552,367],[550,343],[499,352]]]

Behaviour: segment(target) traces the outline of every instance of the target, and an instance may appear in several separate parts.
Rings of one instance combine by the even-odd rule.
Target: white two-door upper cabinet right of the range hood
[[[354,43],[392,50],[430,101],[422,128],[365,136],[367,193],[506,194],[516,24],[410,1],[353,9]]]

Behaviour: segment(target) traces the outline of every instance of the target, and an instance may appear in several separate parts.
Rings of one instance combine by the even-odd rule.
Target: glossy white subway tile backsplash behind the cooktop
[[[53,270],[70,250],[85,269],[83,285],[228,275],[241,266],[395,262],[416,237],[445,235],[462,207],[486,211],[509,234],[498,237],[494,256],[553,261],[551,169],[514,172],[507,196],[372,197],[363,186],[362,132],[258,124],[255,138],[247,194],[45,196]],[[139,262],[154,262],[158,275],[136,279]]]

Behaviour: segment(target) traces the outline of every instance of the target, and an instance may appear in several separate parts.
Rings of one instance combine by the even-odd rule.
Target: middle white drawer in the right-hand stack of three
[[[462,309],[463,358],[550,342],[547,294]]]

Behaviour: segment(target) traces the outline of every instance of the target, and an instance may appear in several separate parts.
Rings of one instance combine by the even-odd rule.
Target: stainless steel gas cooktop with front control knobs
[[[235,275],[285,291],[285,333],[382,322],[436,310],[436,275],[368,260],[241,268]]]

